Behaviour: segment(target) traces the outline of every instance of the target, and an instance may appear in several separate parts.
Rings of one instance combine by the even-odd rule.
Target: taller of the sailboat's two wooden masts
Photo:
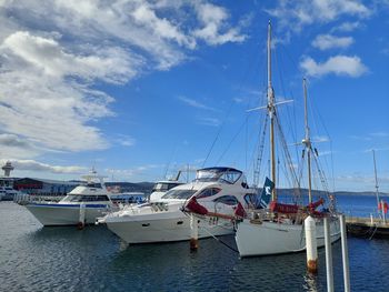
[[[276,184],[276,144],[275,144],[275,91],[271,85],[271,23],[268,26],[268,112],[270,117],[270,164],[271,180]],[[271,200],[277,201],[276,187],[271,193]]]

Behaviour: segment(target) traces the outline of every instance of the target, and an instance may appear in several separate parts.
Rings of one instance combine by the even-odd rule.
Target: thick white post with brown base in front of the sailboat
[[[312,217],[305,220],[306,246],[307,246],[307,268],[308,272],[318,272],[318,244],[316,239],[316,222]]]

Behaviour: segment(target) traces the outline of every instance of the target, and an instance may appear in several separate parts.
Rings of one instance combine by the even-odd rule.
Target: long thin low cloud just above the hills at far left
[[[12,165],[16,170],[22,171],[39,171],[39,172],[50,172],[50,173],[83,173],[87,171],[84,167],[60,167],[60,165],[51,165],[47,163],[41,163],[34,160],[1,160],[1,164],[6,163],[6,161],[11,161]]]

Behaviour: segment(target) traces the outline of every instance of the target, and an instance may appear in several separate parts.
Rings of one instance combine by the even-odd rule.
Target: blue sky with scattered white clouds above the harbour
[[[266,104],[270,20],[290,164],[305,77],[330,189],[373,191],[375,149],[389,192],[388,16],[388,0],[0,0],[0,162],[130,182],[227,165],[252,182],[266,112],[248,110]]]

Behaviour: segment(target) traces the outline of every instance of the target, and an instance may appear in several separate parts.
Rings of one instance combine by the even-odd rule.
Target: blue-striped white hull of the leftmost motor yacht
[[[77,225],[80,221],[80,205],[74,204],[27,204],[26,208],[44,226]],[[84,223],[94,224],[98,217],[102,217],[109,210],[108,205],[86,205]]]

